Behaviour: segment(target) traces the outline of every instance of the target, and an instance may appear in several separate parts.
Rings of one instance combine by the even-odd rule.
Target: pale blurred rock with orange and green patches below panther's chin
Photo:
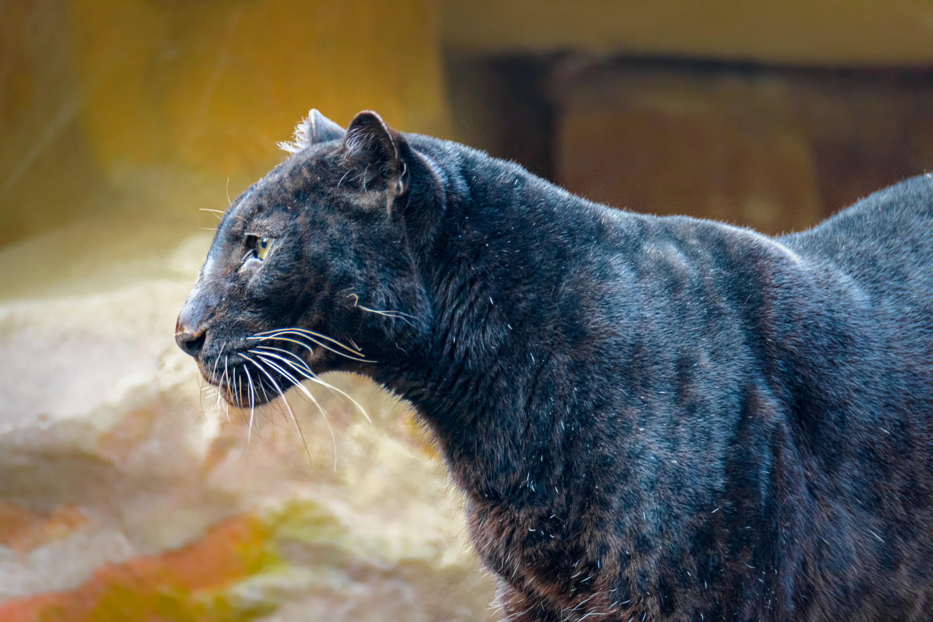
[[[174,345],[210,238],[115,227],[0,252],[0,619],[492,619],[410,409],[333,375],[371,422],[309,387],[304,442],[281,401],[250,428]]]

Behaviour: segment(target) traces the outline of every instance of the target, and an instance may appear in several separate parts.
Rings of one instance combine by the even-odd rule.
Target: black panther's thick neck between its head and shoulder
[[[606,227],[596,206],[500,168],[447,195],[422,259],[431,335],[386,383],[418,408],[468,493],[547,505],[589,416],[565,352],[588,306],[567,285],[590,248],[571,242]]]

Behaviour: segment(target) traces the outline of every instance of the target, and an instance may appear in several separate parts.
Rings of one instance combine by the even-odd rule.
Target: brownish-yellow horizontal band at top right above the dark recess
[[[442,0],[442,12],[445,43],[460,50],[933,62],[929,0]]]

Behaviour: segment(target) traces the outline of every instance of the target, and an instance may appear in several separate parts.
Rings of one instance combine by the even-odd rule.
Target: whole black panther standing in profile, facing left
[[[510,620],[933,619],[933,179],[769,238],[312,111],[176,338],[410,400]]]

